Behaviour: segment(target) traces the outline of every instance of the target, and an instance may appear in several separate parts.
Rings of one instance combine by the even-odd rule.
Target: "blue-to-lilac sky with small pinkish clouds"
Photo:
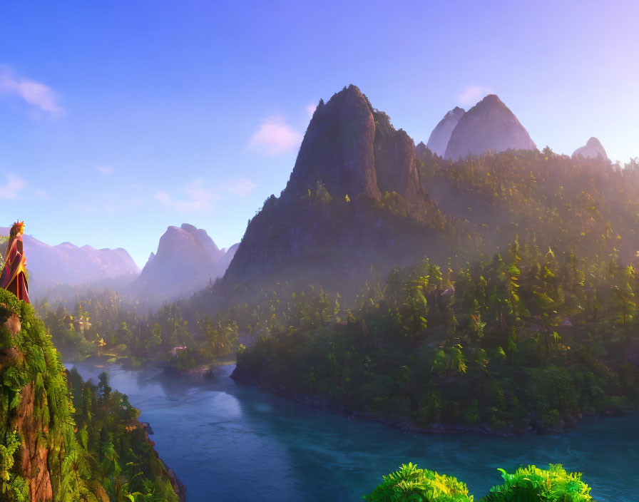
[[[315,105],[354,83],[418,143],[496,93],[539,148],[639,155],[639,2],[0,4],[0,226],[124,247],[168,225],[220,247],[279,195]]]

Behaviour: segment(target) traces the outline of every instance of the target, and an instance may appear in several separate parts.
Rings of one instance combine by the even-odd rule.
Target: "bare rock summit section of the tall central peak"
[[[357,86],[320,101],[310,121],[284,197],[321,182],[332,197],[372,198],[396,192],[412,205],[429,203],[415,167],[415,145],[372,108]]]

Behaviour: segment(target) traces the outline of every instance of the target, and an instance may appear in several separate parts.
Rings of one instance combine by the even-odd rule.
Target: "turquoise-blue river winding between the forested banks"
[[[78,370],[95,382],[105,368]],[[586,418],[561,436],[404,434],[237,385],[231,366],[199,386],[157,369],[106,370],[150,422],[188,502],[359,501],[407,461],[457,476],[475,496],[499,483],[498,467],[563,463],[600,502],[639,500],[637,414]]]

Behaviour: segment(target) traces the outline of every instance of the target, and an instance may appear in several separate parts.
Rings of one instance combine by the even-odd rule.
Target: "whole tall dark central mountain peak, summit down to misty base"
[[[223,280],[354,287],[371,265],[384,273],[436,254],[444,225],[416,168],[413,140],[349,86],[320,102],[280,198],[250,221]]]

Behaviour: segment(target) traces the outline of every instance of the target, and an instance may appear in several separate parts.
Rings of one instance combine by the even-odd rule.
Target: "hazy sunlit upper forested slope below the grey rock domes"
[[[639,165],[570,158],[550,148],[512,151],[447,162],[418,148],[419,171],[448,218],[472,224],[486,247],[498,251],[515,237],[540,248],[588,257],[617,253],[629,263],[639,250]]]

